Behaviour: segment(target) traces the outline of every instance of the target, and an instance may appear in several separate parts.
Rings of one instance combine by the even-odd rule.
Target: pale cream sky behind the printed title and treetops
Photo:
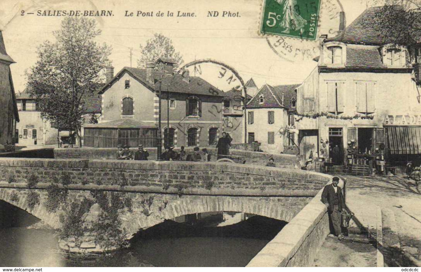
[[[300,0],[297,0],[300,1]],[[162,33],[171,38],[184,63],[199,59],[222,61],[238,71],[246,82],[250,77],[258,87],[264,84],[301,83],[316,66],[312,58],[319,53],[318,41],[282,36],[265,37],[259,34],[261,5],[264,0],[2,0],[0,1],[0,30],[3,31],[6,51],[16,63],[11,64],[16,92],[24,90],[25,71],[37,61],[37,46],[45,40],[54,41],[53,31],[59,29],[63,16],[37,16],[38,11],[112,11],[113,16],[90,17],[97,21],[102,34],[99,43],[112,46],[109,59],[115,74],[124,66],[137,66],[141,56],[139,45]],[[317,36],[334,36],[339,25],[339,11],[344,11],[346,25],[350,24],[371,0],[322,0]],[[136,16],[152,13],[153,16]],[[157,17],[157,12],[163,17]],[[166,16],[168,11],[173,17]],[[193,17],[177,17],[177,12],[195,13]],[[218,11],[217,17],[208,12]],[[236,17],[222,17],[224,11]],[[133,16],[125,16],[133,12]],[[34,13],[34,14],[27,14]],[[23,15],[22,15],[23,14]],[[282,40],[280,40],[282,39]],[[272,48],[274,48],[274,50]],[[130,55],[132,48],[132,57]],[[291,52],[290,52],[291,51]],[[304,53],[303,53],[304,52]],[[198,67],[197,67],[198,68]],[[191,75],[195,75],[190,67]],[[220,88],[229,90],[231,72],[219,65],[203,63],[196,76]],[[235,77],[234,77],[235,78]]]

